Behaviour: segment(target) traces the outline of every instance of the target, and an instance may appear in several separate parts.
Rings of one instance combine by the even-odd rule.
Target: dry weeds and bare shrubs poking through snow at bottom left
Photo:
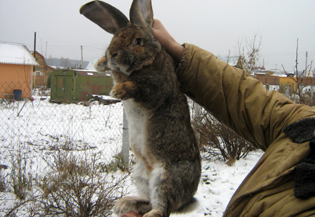
[[[0,192],[0,216],[111,216],[116,200],[127,194],[122,186],[129,173],[103,172],[101,157],[100,152],[55,152],[44,157],[47,168],[36,177],[29,175],[26,157],[14,157],[5,176],[12,187]]]

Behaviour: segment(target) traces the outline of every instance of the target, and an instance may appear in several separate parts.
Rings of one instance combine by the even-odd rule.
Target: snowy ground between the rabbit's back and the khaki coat
[[[199,207],[186,214],[171,214],[173,217],[203,217],[223,216],[225,207],[229,203],[240,183],[244,180],[253,166],[262,156],[262,152],[250,152],[245,159],[236,161],[234,165],[227,165],[224,161],[202,161],[200,184],[195,194]],[[127,182],[131,193],[137,195],[133,181]],[[113,215],[114,216],[114,215]]]

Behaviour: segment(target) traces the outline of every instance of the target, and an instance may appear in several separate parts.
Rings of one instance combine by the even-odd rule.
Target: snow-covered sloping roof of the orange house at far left
[[[0,41],[0,63],[14,65],[38,65],[29,49],[23,44]]]

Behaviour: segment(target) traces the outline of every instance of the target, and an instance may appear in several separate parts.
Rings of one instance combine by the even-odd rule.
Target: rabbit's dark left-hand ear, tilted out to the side
[[[80,8],[80,13],[111,34],[125,27],[129,22],[120,10],[103,1],[86,3]]]

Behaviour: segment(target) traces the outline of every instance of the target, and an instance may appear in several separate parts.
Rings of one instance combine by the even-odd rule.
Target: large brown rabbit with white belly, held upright
[[[102,1],[83,5],[80,13],[114,34],[96,69],[112,73],[110,95],[123,102],[135,155],[139,196],[121,198],[114,213],[164,217],[195,208],[201,156],[175,63],[153,35],[151,1],[134,0],[130,21]]]

